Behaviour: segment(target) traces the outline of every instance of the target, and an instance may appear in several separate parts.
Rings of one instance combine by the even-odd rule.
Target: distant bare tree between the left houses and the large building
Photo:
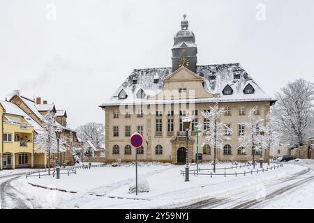
[[[103,146],[105,143],[105,125],[101,123],[80,125],[76,131],[80,139],[89,140],[96,147]]]

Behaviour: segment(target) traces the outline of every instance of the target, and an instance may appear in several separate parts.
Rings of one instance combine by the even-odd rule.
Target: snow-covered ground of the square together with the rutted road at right
[[[222,163],[218,167],[230,165]],[[141,164],[138,167],[139,178],[148,181],[149,192],[139,193],[138,196],[130,194],[128,190],[135,180],[135,167],[130,164],[78,169],[76,175],[63,175],[60,180],[51,176],[22,177],[14,180],[11,185],[40,208],[232,208],[248,200],[251,202],[248,208],[255,208],[255,201],[262,208],[313,208],[314,180],[306,181],[302,190],[296,187],[294,190],[289,188],[287,194],[277,192],[281,187],[285,190],[298,177],[301,179],[306,174],[313,176],[313,167],[313,160],[308,163],[289,162],[279,169],[259,174],[212,178],[190,175],[190,181],[184,182],[184,176],[180,175],[184,166]],[[200,168],[211,168],[211,165],[203,163]],[[245,167],[246,171],[251,168]],[[190,169],[195,169],[195,166]],[[232,173],[234,171],[227,170]],[[223,170],[218,172],[223,173]],[[47,190],[33,187],[29,183],[76,193]],[[304,188],[308,190],[304,191]],[[276,197],[267,197],[268,194],[273,197],[276,194]],[[213,199],[218,206],[212,206]]]

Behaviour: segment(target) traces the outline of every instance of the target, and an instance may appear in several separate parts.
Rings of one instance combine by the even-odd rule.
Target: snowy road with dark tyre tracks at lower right
[[[314,185],[314,165],[300,164],[306,169],[287,177],[278,178],[255,185],[244,185],[239,190],[233,190],[225,194],[216,194],[202,201],[179,206],[184,209],[247,209],[263,208],[269,203],[276,202],[278,198],[295,197],[297,190],[304,191],[308,184]],[[313,194],[308,194],[313,196]]]

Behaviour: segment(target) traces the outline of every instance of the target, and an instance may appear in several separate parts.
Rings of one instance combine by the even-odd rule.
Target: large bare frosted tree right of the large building
[[[314,84],[297,79],[276,93],[274,128],[285,144],[306,145],[314,128]]]

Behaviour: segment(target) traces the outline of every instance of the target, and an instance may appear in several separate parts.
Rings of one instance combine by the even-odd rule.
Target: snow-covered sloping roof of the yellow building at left
[[[29,123],[29,125],[33,126],[33,129],[36,132],[38,133],[43,132],[43,128],[38,123],[36,123],[36,121],[34,121],[33,118],[31,118],[27,113],[20,109],[20,107],[17,107],[17,105],[15,105],[12,102],[0,101],[0,103],[6,110],[6,114],[22,116],[27,121],[27,123]]]

